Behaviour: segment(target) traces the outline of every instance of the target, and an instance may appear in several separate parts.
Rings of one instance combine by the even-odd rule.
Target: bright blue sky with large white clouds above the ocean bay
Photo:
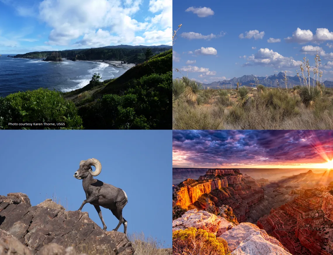
[[[0,0],[0,54],[171,45],[172,0]]]

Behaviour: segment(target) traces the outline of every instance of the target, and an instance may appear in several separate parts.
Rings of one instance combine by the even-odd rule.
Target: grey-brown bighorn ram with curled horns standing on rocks
[[[92,170],[91,166],[96,168]],[[80,162],[80,168],[75,172],[74,177],[76,179],[82,179],[82,186],[86,192],[87,199],[81,204],[79,211],[86,203],[91,203],[95,206],[98,215],[103,223],[103,230],[106,230],[106,225],[103,220],[102,211],[100,206],[110,209],[119,219],[119,223],[114,231],[117,231],[120,225],[124,224],[124,233],[126,234],[127,221],[123,218],[123,208],[127,204],[127,195],[122,189],[116,188],[107,183],[103,183],[93,176],[98,176],[102,171],[102,165],[97,159],[82,160]]]

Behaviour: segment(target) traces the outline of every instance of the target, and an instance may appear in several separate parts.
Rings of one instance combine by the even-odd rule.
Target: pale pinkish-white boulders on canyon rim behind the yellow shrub
[[[172,221],[172,231],[189,227],[201,228],[225,239],[232,255],[291,255],[275,237],[249,222],[234,224],[224,217],[197,209]]]

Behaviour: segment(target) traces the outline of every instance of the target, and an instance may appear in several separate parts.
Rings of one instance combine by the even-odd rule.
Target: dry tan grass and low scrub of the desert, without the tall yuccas
[[[183,97],[173,104],[173,129],[333,129],[332,89],[321,88],[311,107],[302,103],[299,86],[198,90],[195,101]]]

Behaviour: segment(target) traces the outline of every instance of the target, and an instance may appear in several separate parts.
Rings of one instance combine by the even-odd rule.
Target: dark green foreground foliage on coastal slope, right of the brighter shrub
[[[88,129],[171,129],[171,79],[171,71],[133,79],[132,88],[123,95],[104,95],[83,112],[84,126]]]

